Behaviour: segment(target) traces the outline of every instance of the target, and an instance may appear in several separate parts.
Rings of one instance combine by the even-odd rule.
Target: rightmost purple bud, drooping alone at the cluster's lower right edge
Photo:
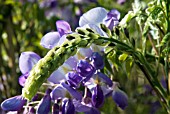
[[[112,92],[112,98],[121,109],[125,109],[128,105],[128,96],[120,89],[116,89]]]

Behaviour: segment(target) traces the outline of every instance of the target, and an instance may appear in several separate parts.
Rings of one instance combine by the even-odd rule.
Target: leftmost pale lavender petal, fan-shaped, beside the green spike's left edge
[[[19,57],[19,68],[22,74],[28,73],[40,59],[41,57],[34,52],[22,52]]]

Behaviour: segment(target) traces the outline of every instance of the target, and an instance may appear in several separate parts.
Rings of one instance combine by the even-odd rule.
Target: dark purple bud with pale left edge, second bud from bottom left
[[[50,112],[51,107],[51,97],[50,97],[50,89],[47,89],[46,94],[41,99],[38,108],[37,108],[37,114],[48,114]]]

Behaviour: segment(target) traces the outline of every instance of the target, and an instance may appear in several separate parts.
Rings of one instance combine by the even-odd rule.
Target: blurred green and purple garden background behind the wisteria
[[[147,5],[148,1],[143,3]],[[0,0],[0,103],[21,94],[22,87],[18,83],[21,75],[18,66],[20,53],[34,51],[43,57],[48,50],[40,46],[40,40],[45,33],[56,31],[57,20],[68,21],[74,30],[84,12],[99,6],[108,10],[117,9],[122,18],[132,9],[134,1],[118,2],[120,0]],[[133,26],[130,32],[137,36],[139,27],[135,22]],[[128,61],[123,65],[128,67]],[[101,110],[110,114],[164,113],[141,71],[134,65],[135,69],[127,73],[124,66],[118,67],[120,72],[115,71],[114,80],[127,93],[128,107],[123,111],[109,98]]]

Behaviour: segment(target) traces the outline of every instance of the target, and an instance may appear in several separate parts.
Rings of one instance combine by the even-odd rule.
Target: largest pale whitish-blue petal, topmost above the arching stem
[[[107,11],[102,7],[96,7],[88,12],[84,13],[79,20],[79,26],[84,26],[86,24],[99,24],[102,23],[103,19],[106,17]]]

